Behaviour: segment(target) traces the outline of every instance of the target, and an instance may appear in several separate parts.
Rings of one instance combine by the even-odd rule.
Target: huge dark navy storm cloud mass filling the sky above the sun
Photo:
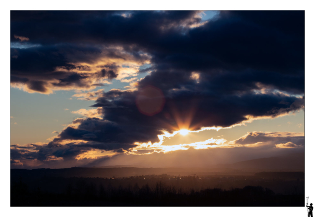
[[[11,49],[11,83],[36,92],[91,88],[101,85],[97,79],[117,78],[121,66],[104,63],[82,73],[92,70],[83,62],[150,60],[152,73],[137,88],[160,89],[161,112],[140,113],[138,90],[111,90],[97,94],[102,119],[76,120],[77,128],[66,127],[53,141],[85,140],[116,151],[157,142],[163,130],[181,127],[178,119],[190,117],[193,129],[228,127],[304,108],[304,11],[221,11],[207,23],[198,13],[12,11],[11,42],[39,46]]]

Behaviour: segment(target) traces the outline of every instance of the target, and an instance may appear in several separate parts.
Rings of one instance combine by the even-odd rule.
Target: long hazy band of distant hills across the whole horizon
[[[304,153],[281,155],[218,164],[207,168],[139,168],[131,165],[72,167],[64,169],[11,169],[11,179],[19,177],[130,177],[142,175],[254,175],[259,172],[304,172]]]

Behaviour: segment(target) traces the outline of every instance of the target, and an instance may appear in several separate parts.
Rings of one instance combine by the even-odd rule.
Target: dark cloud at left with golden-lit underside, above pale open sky
[[[121,66],[108,63],[97,68],[100,59],[143,62],[148,57],[128,54],[116,48],[56,44],[11,48],[11,84],[25,85],[25,91],[51,93],[51,90],[94,89],[101,82],[118,76]]]

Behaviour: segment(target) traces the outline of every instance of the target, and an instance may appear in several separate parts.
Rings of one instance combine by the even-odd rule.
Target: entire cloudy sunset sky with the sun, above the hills
[[[11,11],[11,168],[304,152],[304,11]]]

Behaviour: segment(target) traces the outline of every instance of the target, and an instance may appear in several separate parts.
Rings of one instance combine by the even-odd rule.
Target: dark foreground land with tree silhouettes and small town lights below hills
[[[30,176],[11,170],[11,206],[304,206],[304,173]]]

